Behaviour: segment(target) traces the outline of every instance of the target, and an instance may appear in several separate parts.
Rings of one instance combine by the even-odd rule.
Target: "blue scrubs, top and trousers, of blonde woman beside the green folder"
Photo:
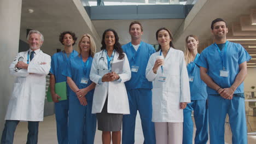
[[[80,56],[76,56],[69,60],[67,68],[62,74],[71,77],[79,89],[86,88],[92,83],[89,79],[91,63],[92,57],[89,57],[86,62],[83,62],[83,59]],[[69,92],[69,143],[94,143],[96,115],[91,113],[93,95],[94,89],[85,95],[88,105],[83,106],[80,104],[75,92],[72,90]]]

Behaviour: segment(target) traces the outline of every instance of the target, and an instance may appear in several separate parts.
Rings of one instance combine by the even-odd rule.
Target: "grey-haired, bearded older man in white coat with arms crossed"
[[[28,121],[27,143],[37,143],[38,124],[43,121],[45,76],[50,70],[51,57],[40,50],[44,37],[39,31],[30,31],[27,41],[30,49],[19,52],[9,67],[16,80],[5,115],[1,144],[13,143],[20,121]]]

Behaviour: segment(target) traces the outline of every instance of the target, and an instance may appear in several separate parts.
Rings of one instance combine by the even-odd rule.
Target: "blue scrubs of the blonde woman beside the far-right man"
[[[194,61],[200,56],[197,53]],[[191,103],[183,110],[183,144],[193,143],[193,120],[191,113],[194,111],[196,125],[195,144],[203,144],[208,141],[208,109],[206,105],[206,84],[201,80],[200,68],[194,62],[187,65],[189,75],[189,87]]]

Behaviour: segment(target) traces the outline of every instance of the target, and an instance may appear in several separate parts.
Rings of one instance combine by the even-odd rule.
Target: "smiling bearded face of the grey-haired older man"
[[[28,39],[28,44],[30,45],[30,49],[33,51],[40,49],[40,47],[43,44],[43,41],[41,41],[41,38],[40,38],[40,34],[38,33],[30,34],[30,38]]]

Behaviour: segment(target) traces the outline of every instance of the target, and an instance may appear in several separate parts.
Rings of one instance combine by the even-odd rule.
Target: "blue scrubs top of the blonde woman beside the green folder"
[[[83,62],[83,59],[80,56],[73,57],[69,59],[67,68],[63,71],[62,74],[63,76],[71,77],[71,79],[74,81],[75,85],[77,85],[79,89],[88,87],[92,83],[92,81],[90,80],[91,63],[92,57],[88,57],[86,62]],[[81,83],[82,78],[88,79],[88,83]],[[75,92],[73,92],[72,90],[69,94],[71,97],[77,97]],[[92,89],[85,95],[86,100],[92,100],[93,95],[94,89]]]

